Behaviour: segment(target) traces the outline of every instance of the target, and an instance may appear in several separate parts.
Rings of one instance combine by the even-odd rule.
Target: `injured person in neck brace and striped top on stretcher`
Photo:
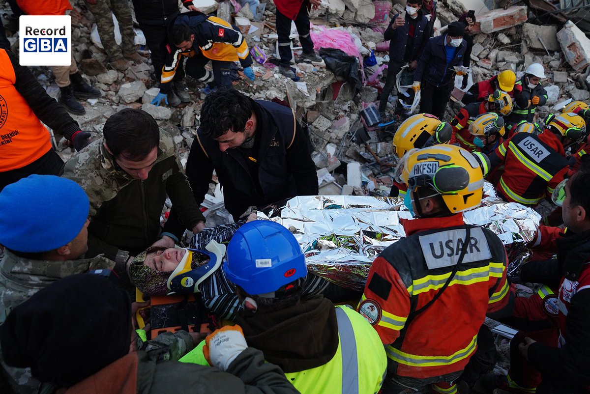
[[[129,278],[144,295],[201,293],[205,306],[222,319],[235,321],[242,309],[234,285],[228,282],[221,265],[225,260],[225,247],[232,236],[246,222],[256,219],[251,214],[236,223],[204,229],[191,239],[191,248],[149,248],[137,255],[129,264]],[[209,245],[210,242],[212,245]],[[215,244],[219,242],[219,244]],[[217,246],[220,248],[217,249]],[[218,251],[221,255],[215,255]],[[191,278],[190,288],[177,286],[184,278]],[[303,282],[303,297],[313,297],[328,286],[323,278],[309,274]],[[186,290],[186,292],[185,292]]]

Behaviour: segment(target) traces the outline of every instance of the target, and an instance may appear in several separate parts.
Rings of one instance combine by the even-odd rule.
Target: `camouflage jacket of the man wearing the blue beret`
[[[0,324],[12,308],[54,281],[89,270],[113,268],[113,265],[102,256],[65,261],[28,260],[5,249],[0,261]],[[1,359],[0,365],[14,392],[37,392],[39,382],[31,376],[30,369],[9,367]]]

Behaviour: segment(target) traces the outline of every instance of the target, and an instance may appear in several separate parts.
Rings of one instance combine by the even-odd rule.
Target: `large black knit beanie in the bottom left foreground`
[[[0,327],[6,364],[41,382],[75,385],[129,353],[129,295],[107,278],[55,281],[14,308]]]

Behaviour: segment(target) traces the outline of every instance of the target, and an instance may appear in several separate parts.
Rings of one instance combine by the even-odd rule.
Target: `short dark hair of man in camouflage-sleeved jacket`
[[[160,143],[160,129],[153,117],[142,110],[127,108],[107,119],[104,142],[114,157],[139,162]]]

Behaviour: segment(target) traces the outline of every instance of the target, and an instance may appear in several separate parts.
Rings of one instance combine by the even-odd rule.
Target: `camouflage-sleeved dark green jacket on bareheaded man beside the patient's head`
[[[205,218],[192,195],[170,134],[160,129],[158,158],[148,179],[133,179],[97,140],[65,163],[63,176],[82,186],[90,199],[89,254],[124,262],[158,239],[160,216],[169,196],[185,228]],[[181,234],[179,234],[181,235]]]

